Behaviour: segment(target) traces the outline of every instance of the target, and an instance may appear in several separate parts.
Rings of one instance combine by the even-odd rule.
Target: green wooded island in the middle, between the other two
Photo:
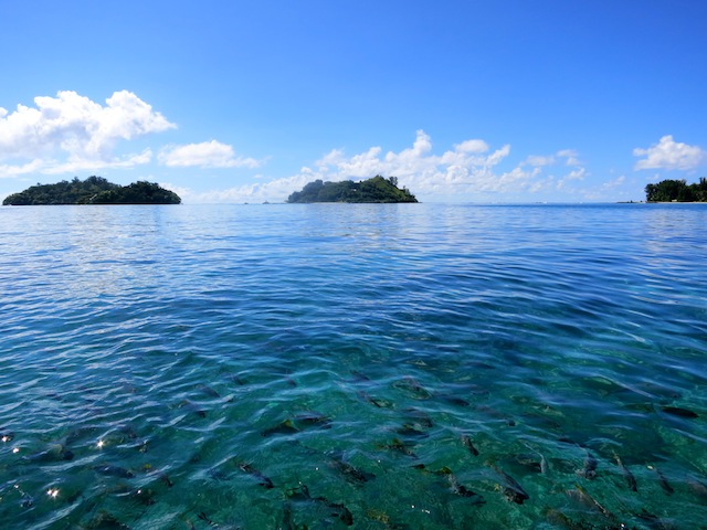
[[[407,188],[398,188],[398,178],[388,179],[377,174],[376,177],[354,182],[323,182],[317,179],[309,182],[302,191],[295,191],[287,198],[289,203],[310,202],[418,202],[415,195]]]

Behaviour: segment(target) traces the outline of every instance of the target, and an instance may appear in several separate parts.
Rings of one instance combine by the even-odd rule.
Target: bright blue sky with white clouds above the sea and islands
[[[707,176],[707,2],[4,1],[0,195],[186,203],[395,176],[425,202],[643,200]]]

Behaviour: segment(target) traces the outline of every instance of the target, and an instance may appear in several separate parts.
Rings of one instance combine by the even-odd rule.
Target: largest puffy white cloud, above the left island
[[[173,127],[128,91],[114,93],[105,105],[73,91],[38,96],[34,107],[18,105],[12,113],[0,108],[0,161],[12,162],[0,166],[0,171],[20,174],[145,163],[150,152],[117,158],[116,145]]]

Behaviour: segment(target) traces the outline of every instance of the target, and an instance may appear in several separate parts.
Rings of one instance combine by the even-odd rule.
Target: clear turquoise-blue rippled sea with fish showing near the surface
[[[705,226],[2,208],[2,528],[707,528]]]

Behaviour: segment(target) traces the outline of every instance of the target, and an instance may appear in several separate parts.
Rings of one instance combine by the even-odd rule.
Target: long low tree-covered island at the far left
[[[12,193],[2,205],[24,206],[43,204],[180,204],[177,193],[154,182],[138,181],[128,186],[114,184],[103,177],[78,177],[70,182],[31,186]]]

